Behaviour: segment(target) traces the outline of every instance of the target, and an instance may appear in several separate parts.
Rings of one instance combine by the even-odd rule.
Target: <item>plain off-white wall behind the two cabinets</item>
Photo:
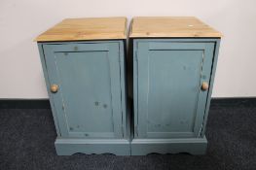
[[[1,0],[0,99],[48,98],[33,39],[65,17],[194,16],[224,34],[213,97],[256,96],[255,0]]]

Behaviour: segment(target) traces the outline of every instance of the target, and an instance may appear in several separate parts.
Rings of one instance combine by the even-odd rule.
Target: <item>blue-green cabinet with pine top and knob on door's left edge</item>
[[[125,17],[69,18],[36,41],[59,155],[129,155]]]

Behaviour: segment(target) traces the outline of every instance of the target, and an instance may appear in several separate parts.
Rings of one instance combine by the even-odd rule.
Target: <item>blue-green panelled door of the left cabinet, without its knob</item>
[[[119,43],[44,45],[61,137],[121,138]],[[50,86],[49,86],[50,87]]]

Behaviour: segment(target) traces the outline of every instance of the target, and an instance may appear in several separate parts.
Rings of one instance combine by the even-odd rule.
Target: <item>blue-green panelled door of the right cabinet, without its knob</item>
[[[135,128],[139,138],[198,137],[205,112],[214,43],[135,44]]]

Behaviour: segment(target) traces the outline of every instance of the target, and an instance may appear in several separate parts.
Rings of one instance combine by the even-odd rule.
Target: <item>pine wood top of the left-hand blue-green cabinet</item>
[[[37,42],[127,39],[126,17],[66,18],[43,34]]]

